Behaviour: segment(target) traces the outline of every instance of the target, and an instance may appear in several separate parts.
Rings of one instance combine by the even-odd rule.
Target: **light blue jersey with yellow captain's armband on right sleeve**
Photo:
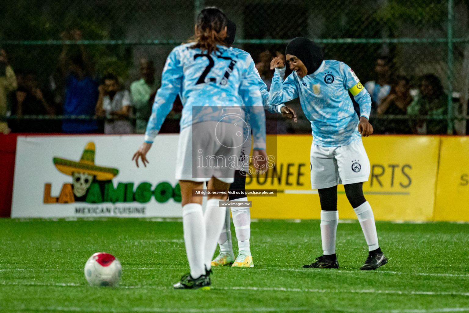
[[[275,69],[269,103],[277,105],[300,97],[315,145],[340,147],[362,141],[357,127],[360,121],[348,91],[360,105],[360,116],[366,118],[370,117],[371,97],[347,64],[325,60],[303,78],[294,71],[283,81],[284,75],[285,68]]]

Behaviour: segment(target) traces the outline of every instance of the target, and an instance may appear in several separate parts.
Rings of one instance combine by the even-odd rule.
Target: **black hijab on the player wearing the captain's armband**
[[[321,62],[324,60],[321,47],[304,37],[296,37],[290,41],[285,54],[295,55],[300,59],[308,70],[306,75],[310,75],[319,69]]]

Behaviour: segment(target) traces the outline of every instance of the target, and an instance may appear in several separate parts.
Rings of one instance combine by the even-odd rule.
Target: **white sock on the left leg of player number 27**
[[[187,260],[189,260],[190,275],[193,278],[198,278],[205,274],[205,222],[200,204],[189,203],[182,207],[182,228],[184,229],[184,243],[186,244]]]

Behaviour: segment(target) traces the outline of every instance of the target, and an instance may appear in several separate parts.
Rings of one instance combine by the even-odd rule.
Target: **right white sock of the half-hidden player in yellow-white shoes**
[[[240,198],[234,201],[248,201],[248,198]],[[250,242],[251,237],[251,213],[249,207],[231,207],[233,214],[233,225],[238,239],[238,250],[251,255]]]

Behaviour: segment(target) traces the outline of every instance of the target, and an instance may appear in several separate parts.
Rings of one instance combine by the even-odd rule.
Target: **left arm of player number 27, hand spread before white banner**
[[[178,51],[176,47],[166,59],[166,64],[161,77],[161,87],[158,89],[155,101],[153,102],[150,120],[148,121],[145,132],[144,143],[132,158],[132,160],[135,160],[137,168],[139,158],[142,159],[145,167],[146,163],[149,163],[146,159],[146,154],[150,150],[151,144],[161,129],[161,125],[163,125],[166,116],[171,112],[177,94],[181,91],[183,71],[181,61],[179,60],[177,53]]]

